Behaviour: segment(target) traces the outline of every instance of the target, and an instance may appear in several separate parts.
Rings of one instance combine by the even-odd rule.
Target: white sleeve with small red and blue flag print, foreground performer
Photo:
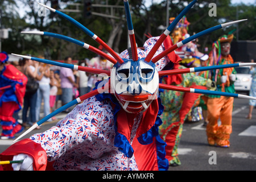
[[[98,158],[113,149],[112,107],[95,97],[77,105],[55,127],[30,137],[46,150],[49,161],[64,155],[72,147],[83,147],[85,155]],[[104,146],[104,147],[103,147]]]

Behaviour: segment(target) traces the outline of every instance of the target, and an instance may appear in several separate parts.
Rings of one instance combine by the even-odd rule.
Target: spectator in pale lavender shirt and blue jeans
[[[72,58],[65,57],[64,63],[71,64]],[[78,85],[75,82],[75,76],[73,75],[72,69],[69,68],[60,68],[60,79],[61,79],[61,90],[62,90],[62,105],[68,104],[73,99],[73,86],[78,88]],[[69,112],[65,110],[64,112]]]

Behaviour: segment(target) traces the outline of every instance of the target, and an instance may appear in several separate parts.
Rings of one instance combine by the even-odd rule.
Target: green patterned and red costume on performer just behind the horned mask
[[[177,65],[176,69],[185,68],[182,65]],[[195,73],[185,73],[181,78],[177,76],[167,77],[163,82],[167,84],[189,87],[189,88],[202,88],[206,89],[207,79],[196,76]],[[189,110],[195,106],[200,94],[191,94],[184,92],[175,92],[172,90],[164,90],[160,93],[164,111],[161,115],[163,124],[159,127],[160,137],[167,143],[166,158],[170,164],[180,165],[178,158],[177,147],[180,142],[182,134],[183,123],[187,118]],[[185,107],[186,106],[186,107]]]

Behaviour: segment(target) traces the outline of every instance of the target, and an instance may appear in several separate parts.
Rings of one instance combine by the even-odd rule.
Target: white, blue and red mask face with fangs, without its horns
[[[115,97],[127,112],[143,112],[156,99],[159,76],[153,63],[123,59],[111,72],[111,87]]]

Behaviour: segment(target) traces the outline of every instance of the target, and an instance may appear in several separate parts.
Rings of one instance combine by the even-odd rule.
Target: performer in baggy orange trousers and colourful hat
[[[209,54],[209,65],[233,64],[230,55],[230,43],[233,34],[224,35],[213,43],[213,49]],[[209,72],[210,78],[216,81],[217,91],[235,93],[234,81],[236,81],[236,70],[234,68],[224,68]],[[233,97],[208,96],[208,125],[207,138],[210,145],[216,144],[220,147],[229,147],[229,137],[232,133],[232,110]],[[218,126],[218,119],[221,125]]]

